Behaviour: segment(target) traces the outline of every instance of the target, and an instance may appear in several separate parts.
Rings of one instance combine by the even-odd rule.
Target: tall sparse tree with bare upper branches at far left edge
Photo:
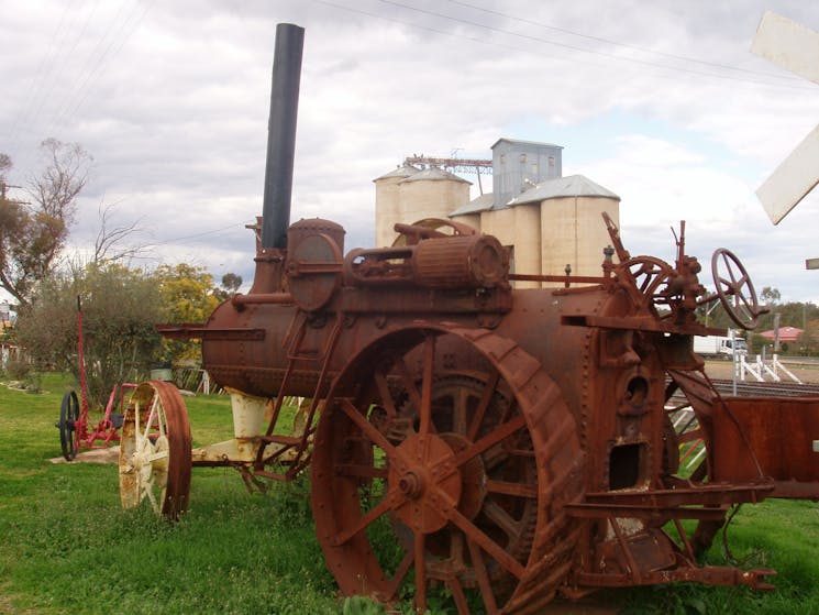
[[[0,199],[0,288],[22,307],[36,283],[54,271],[92,160],[77,143],[47,139],[41,147],[47,164],[29,180],[33,204]],[[9,168],[11,158],[0,155],[0,174]]]

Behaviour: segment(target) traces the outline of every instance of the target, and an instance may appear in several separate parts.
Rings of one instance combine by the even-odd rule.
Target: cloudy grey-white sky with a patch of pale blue
[[[294,220],[369,246],[372,180],[405,156],[544,141],[565,147],[564,175],[621,196],[632,254],[673,261],[685,219],[701,261],[727,246],[757,290],[819,303],[805,271],[819,197],[774,227],[754,196],[819,122],[819,85],[750,52],[766,9],[819,30],[805,0],[0,0],[0,152],[16,185],[45,138],[93,155],[73,250],[113,205],[145,265],[250,282],[274,32],[291,22],[306,28]]]

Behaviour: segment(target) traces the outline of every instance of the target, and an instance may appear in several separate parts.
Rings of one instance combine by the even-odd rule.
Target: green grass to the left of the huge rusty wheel
[[[181,523],[123,512],[115,465],[48,461],[65,382],[44,387],[0,387],[0,613],[341,612],[307,484],[250,495],[233,470],[196,469]],[[230,437],[226,397],[186,404],[195,433]]]

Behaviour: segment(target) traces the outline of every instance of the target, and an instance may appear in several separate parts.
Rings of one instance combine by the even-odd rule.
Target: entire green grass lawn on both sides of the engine
[[[336,596],[313,531],[309,484],[250,495],[239,474],[195,469],[176,525],[120,508],[113,464],[53,464],[67,381],[44,394],[0,386],[0,613],[376,613]],[[186,398],[195,446],[230,437],[226,397]],[[733,557],[778,570],[778,590],[643,587],[599,593],[623,613],[819,615],[819,505],[745,506],[729,529]],[[721,540],[707,556],[726,563]]]

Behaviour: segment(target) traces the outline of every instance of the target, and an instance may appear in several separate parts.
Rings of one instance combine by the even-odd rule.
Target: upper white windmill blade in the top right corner
[[[765,11],[751,51],[795,75],[819,84],[819,33]]]

